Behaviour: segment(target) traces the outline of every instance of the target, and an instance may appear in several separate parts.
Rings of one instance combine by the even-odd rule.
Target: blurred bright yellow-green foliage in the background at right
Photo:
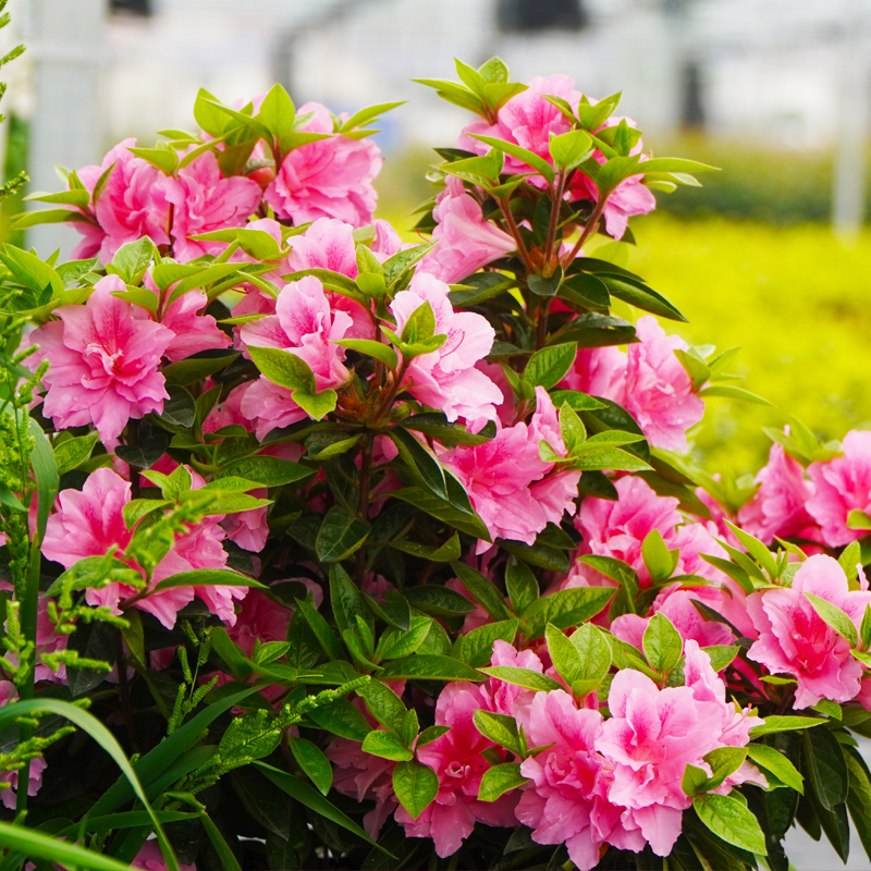
[[[789,415],[826,439],[871,428],[871,233],[846,247],[824,224],[662,212],[634,226],[630,268],[690,320],[665,329],[694,344],[740,345],[744,385],[776,406],[709,400],[696,447],[710,471],[756,471],[770,446],[760,428]]]

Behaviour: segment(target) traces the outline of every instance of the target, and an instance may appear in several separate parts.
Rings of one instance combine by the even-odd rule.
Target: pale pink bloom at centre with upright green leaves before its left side
[[[408,290],[393,298],[390,310],[396,318],[398,335],[412,314],[429,303],[436,316],[436,334],[447,336],[440,348],[412,360],[404,387],[419,402],[444,412],[449,420],[461,416],[492,420],[502,392],[475,365],[490,353],[495,333],[482,316],[454,311],[449,290],[444,282],[418,272]]]

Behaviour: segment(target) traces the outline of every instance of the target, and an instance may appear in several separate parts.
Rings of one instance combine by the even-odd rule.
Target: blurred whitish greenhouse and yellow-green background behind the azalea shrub
[[[631,266],[690,319],[688,341],[740,345],[746,385],[775,407],[712,400],[696,451],[740,475],[761,426],[789,414],[825,438],[871,426],[871,236],[864,231],[871,0],[11,0],[0,126],[7,176],[60,186],[127,136],[192,128],[199,87],[224,101],[281,82],[334,112],[407,100],[378,135],[381,217],[408,228],[424,177],[468,116],[410,79],[500,54],[514,77],[563,72],[646,148],[723,168],[658,195]],[[3,221],[20,204],[8,204]],[[76,235],[36,228],[41,254]],[[19,238],[19,242],[23,240]]]

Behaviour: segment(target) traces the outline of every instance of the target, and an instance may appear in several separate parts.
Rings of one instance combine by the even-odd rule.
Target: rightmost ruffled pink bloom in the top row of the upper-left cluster
[[[332,133],[333,121],[324,106],[307,102],[299,115],[314,112],[304,130]],[[372,222],[377,194],[372,181],[381,170],[378,146],[371,139],[332,136],[291,151],[265,199],[279,218],[295,224],[318,218],[339,218],[353,226]]]

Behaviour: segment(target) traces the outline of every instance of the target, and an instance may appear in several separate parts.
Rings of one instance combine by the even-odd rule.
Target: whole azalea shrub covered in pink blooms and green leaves
[[[32,195],[72,261],[0,249],[3,869],[871,850],[871,433],[694,465],[758,397],[616,243],[710,168],[457,72],[414,242],[396,105],[277,85]]]

